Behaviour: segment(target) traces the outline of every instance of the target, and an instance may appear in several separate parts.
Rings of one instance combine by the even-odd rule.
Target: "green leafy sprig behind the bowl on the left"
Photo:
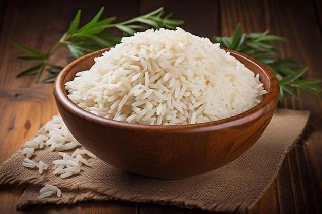
[[[176,26],[183,24],[182,20],[171,19],[172,14],[162,17],[164,14],[163,7],[160,7],[151,13],[131,18],[128,21],[120,23],[112,23],[116,20],[116,17],[100,20],[103,10],[104,7],[99,10],[90,22],[82,27],[79,27],[81,18],[81,10],[79,10],[74,20],[70,23],[66,33],[64,33],[60,40],[53,45],[48,52],[14,43],[13,45],[15,47],[29,54],[19,56],[18,59],[37,62],[36,65],[20,72],[17,77],[38,73],[35,81],[38,83],[43,71],[46,69],[51,73],[51,76],[44,79],[42,82],[53,82],[57,74],[63,69],[61,66],[53,65],[48,62],[49,57],[56,48],[61,44],[65,44],[70,53],[78,58],[88,52],[115,46],[120,42],[122,36],[105,33],[104,30],[107,28],[117,28],[123,32],[123,36],[130,36],[139,30],[147,29],[147,26],[155,29],[160,27],[175,29]]]

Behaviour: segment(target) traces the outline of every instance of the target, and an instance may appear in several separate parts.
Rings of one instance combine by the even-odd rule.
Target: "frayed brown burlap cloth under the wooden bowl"
[[[269,127],[251,149],[235,161],[198,176],[175,180],[147,178],[91,158],[92,167],[85,166],[77,176],[61,179],[52,174],[50,168],[40,175],[37,169],[23,167],[24,156],[17,151],[0,165],[0,184],[28,184],[17,203],[17,208],[21,209],[32,204],[122,200],[207,211],[245,211],[270,187],[308,118],[308,111],[277,109]],[[43,128],[37,134],[42,132]],[[37,151],[33,160],[52,163],[58,158],[57,152],[50,152],[47,147]],[[44,184],[59,187],[62,197],[37,199]]]

